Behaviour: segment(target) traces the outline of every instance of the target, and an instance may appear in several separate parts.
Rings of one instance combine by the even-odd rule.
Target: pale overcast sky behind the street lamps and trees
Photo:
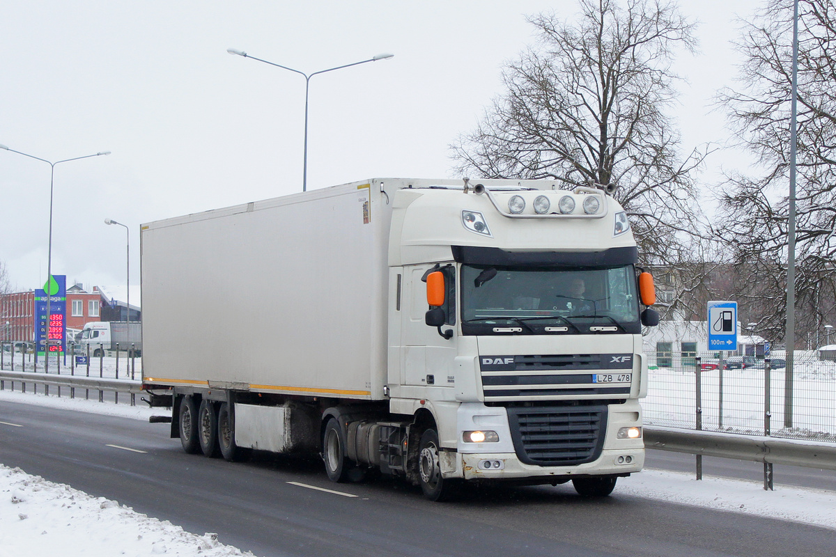
[[[680,1],[701,23],[701,51],[674,68],[687,79],[672,110],[685,151],[728,139],[711,98],[733,83],[735,18],[760,3]],[[533,43],[525,16],[547,11],[572,18],[577,3],[6,3],[0,144],[51,162],[111,152],[55,166],[52,268],[121,291],[130,241],[136,304],[140,224],[301,190],[304,78],[227,48],[304,73],[395,54],[310,80],[308,190],[459,178],[449,145],[502,93],[503,63]],[[741,159],[712,155],[706,194]],[[0,150],[0,261],[18,290],[46,278],[49,181],[48,164]]]

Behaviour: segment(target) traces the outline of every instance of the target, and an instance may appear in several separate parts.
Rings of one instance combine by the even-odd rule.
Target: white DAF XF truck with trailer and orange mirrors
[[[606,496],[645,460],[624,209],[556,180],[373,179],[141,225],[143,387],[187,453]],[[217,341],[222,324],[223,342]]]

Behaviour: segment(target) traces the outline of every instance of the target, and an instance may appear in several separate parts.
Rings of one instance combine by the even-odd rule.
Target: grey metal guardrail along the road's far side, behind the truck
[[[74,389],[125,392],[134,397],[142,391],[142,382],[132,379],[114,379],[107,377],[81,377],[35,372],[9,372],[0,370],[0,390],[5,383],[40,384],[54,387],[69,387],[71,396]],[[99,395],[99,402],[101,396]],[[823,468],[836,470],[836,444],[818,443],[800,439],[782,439],[766,436],[739,435],[736,433],[716,433],[693,431],[680,428],[657,428],[645,426],[645,447],[675,453],[696,455],[696,478],[702,478],[701,458],[737,458],[763,463],[764,489],[772,489],[772,464]]]

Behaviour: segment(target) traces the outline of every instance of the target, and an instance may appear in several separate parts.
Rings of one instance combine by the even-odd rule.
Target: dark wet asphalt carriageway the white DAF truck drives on
[[[571,484],[493,487],[434,504],[395,479],[331,484],[314,459],[258,455],[227,463],[187,455],[167,438],[166,424],[7,402],[0,402],[0,422],[0,463],[196,534],[217,532],[223,543],[263,557],[833,557],[836,547],[833,530],[617,490],[587,500]]]

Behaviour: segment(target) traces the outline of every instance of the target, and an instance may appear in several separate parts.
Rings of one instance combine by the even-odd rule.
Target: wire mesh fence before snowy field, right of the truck
[[[793,358],[789,397],[782,354],[722,361],[714,353],[651,354],[645,423],[836,443],[836,362],[814,354]]]

